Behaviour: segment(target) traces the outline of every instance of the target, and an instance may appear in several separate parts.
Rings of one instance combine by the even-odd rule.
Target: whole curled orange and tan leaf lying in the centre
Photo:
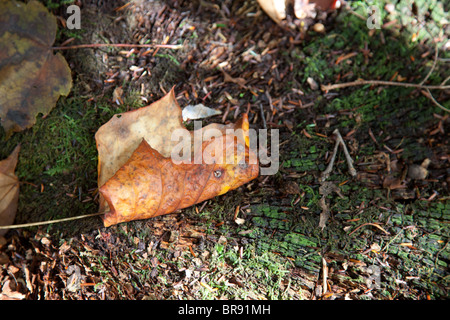
[[[172,160],[178,144],[172,140],[174,130],[195,140],[198,133],[202,136],[210,129],[218,134],[194,145],[191,160]],[[227,129],[240,130],[228,134]],[[98,130],[98,184],[105,226],[171,213],[258,176],[246,114],[236,124],[213,123],[199,130],[190,132],[183,126],[173,89],[147,107],[114,116]]]

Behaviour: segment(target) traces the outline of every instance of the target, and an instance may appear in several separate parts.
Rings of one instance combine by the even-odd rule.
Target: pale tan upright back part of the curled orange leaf
[[[242,129],[248,131],[248,120],[238,121],[236,124],[210,124],[203,128],[217,129],[225,133],[227,129]],[[128,161],[142,139],[145,139],[153,149],[163,157],[169,157],[179,141],[172,139],[172,134],[191,135],[183,126],[182,111],[172,90],[164,97],[137,110],[114,115],[106,124],[101,126],[95,134],[98,151],[98,186],[101,187],[111,178],[121,166]],[[243,136],[240,139],[245,139]],[[107,209],[100,198],[100,211]]]

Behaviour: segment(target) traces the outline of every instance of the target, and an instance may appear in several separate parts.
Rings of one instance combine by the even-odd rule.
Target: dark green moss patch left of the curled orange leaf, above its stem
[[[52,112],[24,132],[4,140],[0,158],[21,144],[16,174],[20,189],[17,223],[94,213],[97,188],[95,132],[115,113],[140,106],[134,94],[122,106],[106,99],[88,102],[77,88],[61,98]],[[67,227],[67,226],[66,226]]]

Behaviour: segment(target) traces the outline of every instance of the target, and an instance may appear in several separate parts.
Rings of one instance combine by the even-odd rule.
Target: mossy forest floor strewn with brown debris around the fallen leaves
[[[96,212],[95,132],[172,87],[181,107],[222,111],[204,123],[248,112],[251,128],[279,130],[279,170],[145,221],[105,228],[92,217],[10,230],[0,237],[0,297],[447,299],[450,117],[436,102],[449,109],[449,91],[321,85],[419,84],[428,74],[423,85],[442,84],[449,8],[373,2],[380,29],[368,28],[365,1],[277,25],[256,1],[140,0],[82,1],[82,29],[69,30],[61,24],[67,6],[43,1],[62,18],[56,45],[180,48],[63,51],[71,94],[0,141],[0,159],[22,144],[15,223]],[[324,32],[313,30],[318,22]],[[323,182],[335,129],[357,176],[340,149]]]

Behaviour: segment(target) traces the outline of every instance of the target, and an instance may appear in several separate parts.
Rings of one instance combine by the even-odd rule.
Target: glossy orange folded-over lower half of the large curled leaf
[[[175,164],[142,140],[125,165],[99,189],[110,208],[103,219],[105,226],[187,208],[256,178],[258,165],[248,164],[248,147],[237,138],[225,140],[222,136],[203,144],[202,150],[212,150],[212,156],[216,156],[213,145],[222,146],[223,161],[215,159],[211,164]],[[234,147],[245,152],[227,156],[226,151]]]

